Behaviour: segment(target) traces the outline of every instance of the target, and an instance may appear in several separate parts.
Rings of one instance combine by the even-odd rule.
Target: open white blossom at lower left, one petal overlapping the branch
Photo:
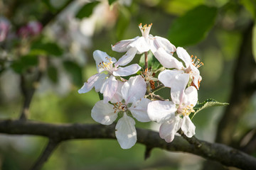
[[[117,119],[119,113],[122,118],[117,121],[115,135],[123,149],[129,149],[137,142],[135,121],[131,114],[140,122],[149,122],[146,108],[149,99],[144,98],[146,82],[141,76],[131,77],[125,83],[119,84],[111,103],[98,101],[92,108],[92,118],[103,125],[110,125]]]

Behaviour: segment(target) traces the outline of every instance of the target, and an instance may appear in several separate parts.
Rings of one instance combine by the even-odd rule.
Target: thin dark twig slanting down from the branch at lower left
[[[53,140],[49,139],[49,142],[46,146],[46,149],[44,149],[43,153],[41,156],[38,158],[36,163],[32,166],[31,170],[38,170],[41,169],[43,164],[47,162],[48,158],[50,155],[53,153],[53,151],[58,147],[59,141],[58,140]]]

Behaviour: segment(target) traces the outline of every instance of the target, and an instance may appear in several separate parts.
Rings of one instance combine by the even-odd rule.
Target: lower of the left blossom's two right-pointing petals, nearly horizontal
[[[115,77],[126,77],[132,74],[136,74],[139,69],[142,69],[142,67],[139,66],[139,64],[132,64],[127,67],[118,67],[114,72],[113,75]]]

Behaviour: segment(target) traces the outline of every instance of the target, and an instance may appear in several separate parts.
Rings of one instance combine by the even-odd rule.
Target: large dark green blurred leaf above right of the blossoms
[[[176,47],[193,45],[206,37],[215,23],[217,8],[197,6],[179,17],[169,29],[169,40]]]

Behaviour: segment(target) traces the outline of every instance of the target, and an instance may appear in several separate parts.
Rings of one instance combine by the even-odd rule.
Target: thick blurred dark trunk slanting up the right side
[[[248,106],[250,98],[255,88],[255,82],[252,82],[256,74],[256,63],[252,55],[252,26],[245,30],[243,34],[240,54],[233,74],[233,89],[230,94],[230,103],[224,112],[223,118],[218,125],[216,142],[225,145],[232,145],[235,128],[242,114]]]

